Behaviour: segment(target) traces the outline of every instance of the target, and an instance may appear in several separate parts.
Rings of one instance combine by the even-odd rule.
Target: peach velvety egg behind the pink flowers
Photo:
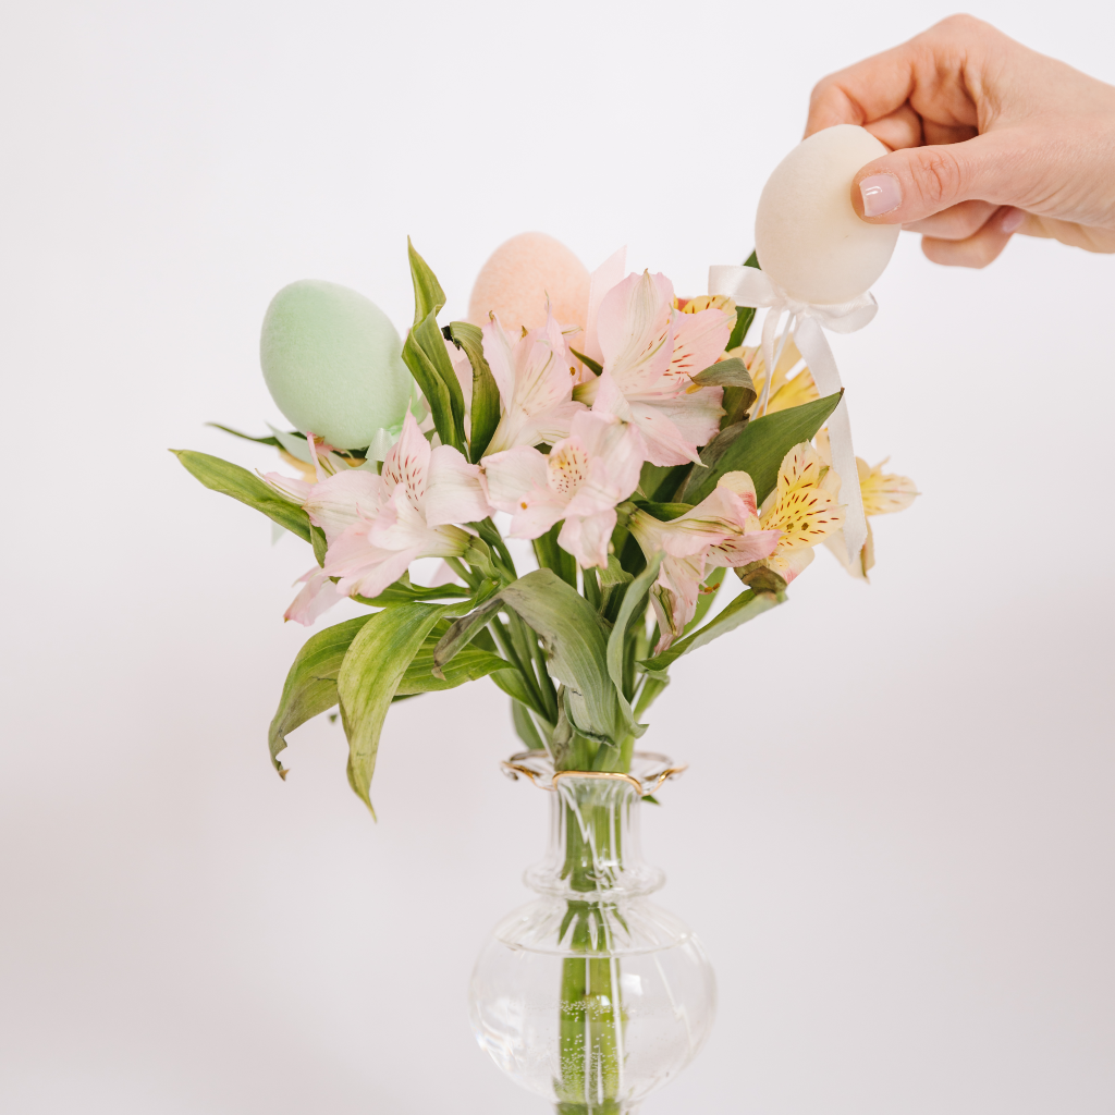
[[[501,244],[481,268],[468,320],[485,326],[494,312],[508,334],[546,323],[546,299],[563,326],[588,324],[589,271],[560,241],[524,232]]]

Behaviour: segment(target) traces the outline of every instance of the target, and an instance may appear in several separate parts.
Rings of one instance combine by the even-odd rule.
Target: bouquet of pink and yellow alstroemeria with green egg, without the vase
[[[569,269],[547,237],[501,252],[539,243]],[[586,283],[559,274],[566,304],[540,299],[527,328],[501,316],[522,301],[500,289],[516,278],[501,252],[473,320],[443,327],[445,294],[411,246],[405,342],[355,291],[280,291],[261,355],[298,428],[253,440],[298,475],[176,450],[206,487],[312,547],[287,619],[310,624],[343,597],[368,608],[306,642],[270,749],[285,776],[289,733],[339,706],[369,808],[391,702],[483,677],[554,769],[627,772],[673,662],[785,601],[818,543],[866,576],[870,533],[851,560],[844,547],[844,485],[860,485],[869,516],[917,494],[882,465],[837,476],[824,426],[840,395],[818,397],[792,338],[765,367],[746,343],[754,309],[624,277],[619,252]],[[536,568],[516,568],[505,539],[530,540]],[[442,565],[418,584],[424,558]],[[710,614],[731,575],[740,591]]]

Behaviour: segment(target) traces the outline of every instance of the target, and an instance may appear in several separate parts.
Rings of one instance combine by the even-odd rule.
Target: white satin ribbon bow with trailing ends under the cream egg
[[[879,303],[871,293],[861,294],[851,302],[841,302],[837,306],[798,302],[766,272],[747,266],[709,268],[708,292],[726,294],[736,306],[753,306],[769,311],[763,322],[763,362],[766,365],[766,382],[763,385],[763,398],[759,400],[760,413],[766,410],[775,365],[777,357],[782,356],[779,348],[776,357],[774,343],[783,312],[788,314],[783,345],[785,338],[793,334],[798,351],[813,374],[817,390],[821,395],[833,395],[842,385],[836,359],[828,347],[828,341],[825,340],[822,326],[834,333],[854,333],[871,321],[879,309]],[[860,471],[855,464],[852,425],[849,421],[847,403],[844,399],[840,400],[836,409],[828,416],[828,443],[832,447],[833,468],[841,478],[840,498],[844,504],[844,543],[847,546],[847,560],[855,562],[864,542],[867,541],[867,520],[863,514]]]

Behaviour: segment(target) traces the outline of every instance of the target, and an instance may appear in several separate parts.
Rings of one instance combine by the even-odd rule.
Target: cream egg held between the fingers
[[[775,167],[755,215],[755,254],[791,298],[851,302],[886,269],[899,226],[867,224],[852,207],[856,171],[886,154],[865,128],[837,124],[803,139]]]

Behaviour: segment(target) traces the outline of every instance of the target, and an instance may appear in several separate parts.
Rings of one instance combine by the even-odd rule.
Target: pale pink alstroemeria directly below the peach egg
[[[566,437],[573,415],[584,405],[572,399],[576,361],[554,316],[547,309],[545,326],[512,341],[493,314],[483,333],[484,359],[503,404],[488,450],[501,453],[541,442],[553,445]]]

